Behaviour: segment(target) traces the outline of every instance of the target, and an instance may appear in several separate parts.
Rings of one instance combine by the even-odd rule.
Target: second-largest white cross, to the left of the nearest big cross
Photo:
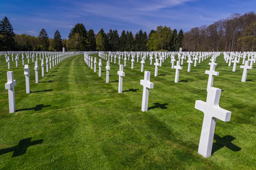
[[[150,72],[144,72],[144,79],[140,80],[140,84],[143,86],[142,94],[142,111],[148,111],[149,106],[149,89],[154,88],[154,84],[150,82]]]

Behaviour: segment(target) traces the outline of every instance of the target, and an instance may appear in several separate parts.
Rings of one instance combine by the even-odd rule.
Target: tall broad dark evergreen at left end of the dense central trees
[[[78,36],[75,38],[75,36]],[[87,50],[87,30],[85,29],[85,26],[82,23],[77,23],[74,28],[70,31],[70,34],[68,35],[68,38],[75,38],[75,40],[79,40],[78,46],[76,46],[77,49],[73,50],[80,50],[85,51]],[[73,40],[71,40],[73,41]]]

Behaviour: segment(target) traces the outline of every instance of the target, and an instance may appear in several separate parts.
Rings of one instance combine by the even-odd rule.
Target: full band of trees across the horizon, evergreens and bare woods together
[[[97,34],[94,30],[86,30],[82,23],[75,25],[68,40],[61,39],[58,30],[54,38],[48,38],[42,29],[38,37],[32,35],[16,35],[7,17],[0,21],[0,51],[254,51],[256,47],[256,14],[234,14],[217,21],[210,26],[192,28],[183,34],[183,30],[171,30],[170,27],[158,26],[149,35],[139,30],[135,35],[132,31],[117,30],[105,33],[101,29]]]

